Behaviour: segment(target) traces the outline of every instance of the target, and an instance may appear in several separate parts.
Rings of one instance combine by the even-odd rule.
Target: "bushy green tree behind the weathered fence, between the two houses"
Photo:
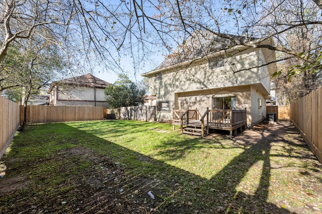
[[[106,87],[105,95],[111,108],[137,106],[144,101],[145,89],[141,89],[128,76],[121,74],[114,84]]]

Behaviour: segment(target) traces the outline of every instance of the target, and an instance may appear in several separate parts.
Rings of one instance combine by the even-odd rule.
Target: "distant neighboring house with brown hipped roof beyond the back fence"
[[[107,106],[104,91],[109,84],[92,74],[53,82],[48,90],[49,105]]]

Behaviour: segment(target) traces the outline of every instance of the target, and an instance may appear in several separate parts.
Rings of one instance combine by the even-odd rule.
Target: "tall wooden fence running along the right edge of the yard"
[[[290,120],[322,163],[322,88],[290,104]]]

